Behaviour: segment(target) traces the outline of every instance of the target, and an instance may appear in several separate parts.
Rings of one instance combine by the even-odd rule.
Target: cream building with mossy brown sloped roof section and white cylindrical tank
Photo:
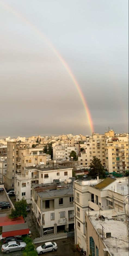
[[[127,187],[128,181],[123,181]],[[118,186],[118,187],[117,187]],[[121,183],[122,187],[122,183]],[[85,211],[103,211],[115,209],[125,212],[124,192],[119,191],[119,181],[113,178],[105,180],[75,181],[74,182],[74,213],[75,213],[75,244],[87,251],[85,233]],[[125,193],[127,190],[125,189]]]

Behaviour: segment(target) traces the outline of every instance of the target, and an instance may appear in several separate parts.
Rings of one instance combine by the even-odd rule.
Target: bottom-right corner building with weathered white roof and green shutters
[[[125,215],[112,210],[85,212],[87,255],[128,255],[128,234]]]

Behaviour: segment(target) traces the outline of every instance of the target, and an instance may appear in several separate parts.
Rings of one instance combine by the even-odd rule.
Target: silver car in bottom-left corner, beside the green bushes
[[[26,243],[24,242],[11,241],[2,245],[1,251],[4,253],[23,251],[25,247],[26,247]]]

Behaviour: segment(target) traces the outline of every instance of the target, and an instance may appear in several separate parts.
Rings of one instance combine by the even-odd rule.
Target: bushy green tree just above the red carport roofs
[[[27,216],[26,206],[27,206],[27,202],[24,198],[16,202],[14,205],[14,209],[13,208],[11,209],[11,214],[9,215],[9,218],[13,219],[20,216],[23,216],[23,218],[25,218]]]

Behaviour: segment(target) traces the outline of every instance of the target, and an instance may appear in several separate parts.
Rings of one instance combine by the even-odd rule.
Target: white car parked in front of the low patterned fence
[[[54,242],[47,242],[36,248],[36,252],[38,254],[42,254],[44,252],[50,252],[50,251],[54,252],[55,250],[57,250],[57,244]]]

